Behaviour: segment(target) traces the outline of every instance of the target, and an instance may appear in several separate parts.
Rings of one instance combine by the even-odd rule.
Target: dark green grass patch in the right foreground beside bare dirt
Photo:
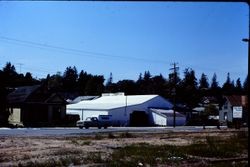
[[[108,166],[132,167],[137,166],[139,162],[150,166],[156,166],[157,164],[171,164],[171,166],[179,166],[182,162],[199,161],[198,159],[190,158],[191,156],[201,157],[201,159],[235,158],[240,154],[247,152],[248,135],[246,133],[239,132],[229,139],[206,136],[205,142],[196,142],[188,146],[158,146],[146,143],[133,144],[114,151]],[[216,165],[223,166],[223,164],[228,165],[230,163],[231,162],[222,162]]]

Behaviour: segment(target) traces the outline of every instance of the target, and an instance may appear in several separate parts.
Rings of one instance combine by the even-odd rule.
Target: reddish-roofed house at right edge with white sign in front
[[[224,103],[219,112],[220,122],[233,122],[234,119],[237,118],[240,119],[242,123],[248,123],[247,96],[225,96]]]

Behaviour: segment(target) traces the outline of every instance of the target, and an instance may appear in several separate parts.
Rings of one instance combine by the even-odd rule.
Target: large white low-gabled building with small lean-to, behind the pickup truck
[[[172,103],[159,95],[125,96],[117,93],[69,104],[67,114],[78,114],[81,120],[111,115],[114,126],[169,126],[173,124],[172,107]],[[185,122],[185,116],[176,112],[176,125],[185,125]]]

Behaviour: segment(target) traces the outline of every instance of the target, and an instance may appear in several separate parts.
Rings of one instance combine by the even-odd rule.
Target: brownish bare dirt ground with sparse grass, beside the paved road
[[[106,133],[70,137],[0,137],[0,166],[98,166],[117,149],[132,144],[185,146],[207,136],[224,139],[235,131],[199,133]],[[248,156],[246,153],[245,156]]]

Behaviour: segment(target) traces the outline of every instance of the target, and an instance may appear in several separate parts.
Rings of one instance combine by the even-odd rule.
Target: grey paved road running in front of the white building
[[[207,126],[206,129],[216,129],[215,126]],[[221,127],[226,129],[226,127]],[[87,135],[102,132],[140,132],[140,133],[160,133],[169,131],[199,132],[202,126],[180,126],[180,127],[109,127],[107,129],[89,128],[0,128],[1,136],[72,136]]]

